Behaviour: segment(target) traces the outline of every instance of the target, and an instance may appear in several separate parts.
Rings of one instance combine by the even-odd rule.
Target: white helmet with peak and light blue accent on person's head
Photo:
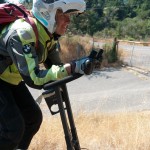
[[[32,13],[50,33],[53,33],[57,9],[61,9],[63,13],[82,13],[85,7],[84,0],[33,0]]]

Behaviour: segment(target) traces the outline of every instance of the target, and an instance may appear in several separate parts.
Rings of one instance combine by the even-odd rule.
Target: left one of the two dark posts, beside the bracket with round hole
[[[61,95],[61,91],[59,87],[55,87],[55,93],[56,93],[56,96],[58,97],[58,107],[59,107],[61,121],[62,121],[63,129],[64,129],[67,150],[74,150],[73,143],[72,143],[72,136],[70,135],[70,130],[69,130],[66,113],[65,113],[64,105],[63,105],[63,99],[62,99],[62,95]]]

